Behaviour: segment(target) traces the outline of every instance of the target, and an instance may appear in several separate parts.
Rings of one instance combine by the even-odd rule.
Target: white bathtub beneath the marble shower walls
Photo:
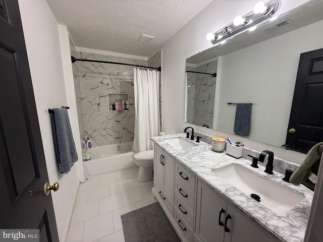
[[[84,160],[85,178],[116,170],[138,167],[130,157],[133,142],[104,145],[90,150],[91,159]]]

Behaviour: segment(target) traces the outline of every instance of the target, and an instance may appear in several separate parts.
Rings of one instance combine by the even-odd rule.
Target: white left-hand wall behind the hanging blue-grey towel
[[[65,241],[79,184],[76,166],[82,162],[82,156],[79,155],[79,161],[72,167],[72,170],[68,174],[59,173],[52,138],[50,116],[49,114],[45,114],[45,110],[67,105],[70,105],[74,109],[76,107],[72,105],[72,102],[66,95],[66,92],[70,91],[70,88],[67,89],[65,85],[59,25],[55,17],[44,0],[19,0],[18,2],[49,183],[51,185],[56,181],[60,183],[60,190],[56,193],[52,192],[51,194],[60,241]],[[66,41],[69,44],[68,38]],[[73,83],[73,79],[71,82]],[[75,111],[69,111],[71,120],[77,120]],[[71,126],[73,132],[78,130],[75,122]],[[79,141],[79,138],[77,141]]]

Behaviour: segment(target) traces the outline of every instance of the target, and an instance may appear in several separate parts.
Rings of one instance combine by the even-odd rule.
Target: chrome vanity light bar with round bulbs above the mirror
[[[281,6],[281,0],[271,0],[267,3],[258,2],[253,11],[244,16],[237,16],[232,23],[214,33],[208,33],[206,39],[215,45],[223,43],[228,38],[232,38],[246,30],[253,31],[261,23],[271,19]]]

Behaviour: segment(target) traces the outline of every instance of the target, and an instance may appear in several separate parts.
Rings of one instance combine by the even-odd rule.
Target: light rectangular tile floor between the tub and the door
[[[125,241],[121,215],[157,200],[153,181],[139,183],[138,168],[91,177],[80,184],[66,242]]]

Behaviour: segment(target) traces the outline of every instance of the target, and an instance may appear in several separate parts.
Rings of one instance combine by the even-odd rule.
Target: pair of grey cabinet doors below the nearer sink
[[[194,242],[276,242],[198,180]]]

